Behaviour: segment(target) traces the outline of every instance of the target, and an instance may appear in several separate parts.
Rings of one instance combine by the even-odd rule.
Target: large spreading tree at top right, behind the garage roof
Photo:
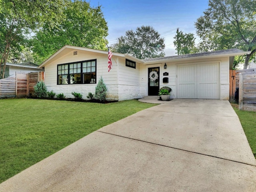
[[[208,9],[195,23],[196,32],[202,39],[201,49],[250,51],[245,58],[246,69],[256,52],[255,10],[255,0],[209,0]]]

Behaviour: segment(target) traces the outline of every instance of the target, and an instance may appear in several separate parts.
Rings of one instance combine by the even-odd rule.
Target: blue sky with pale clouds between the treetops
[[[142,25],[152,26],[165,39],[166,56],[175,55],[174,36],[177,28],[196,33],[194,22],[208,8],[208,0],[91,0],[91,6],[102,5],[108,22],[109,45],[117,42],[127,30]]]

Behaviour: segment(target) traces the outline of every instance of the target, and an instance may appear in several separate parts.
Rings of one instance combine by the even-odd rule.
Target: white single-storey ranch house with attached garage
[[[234,56],[248,54],[239,49],[168,56],[140,60],[128,54],[112,53],[108,72],[108,52],[64,46],[44,61],[45,84],[56,94],[72,98],[78,92],[86,99],[95,92],[102,76],[107,100],[129,100],[158,95],[162,86],[172,88],[170,98],[229,99],[229,70]],[[150,72],[157,73],[155,80]],[[151,73],[152,74],[152,73]]]

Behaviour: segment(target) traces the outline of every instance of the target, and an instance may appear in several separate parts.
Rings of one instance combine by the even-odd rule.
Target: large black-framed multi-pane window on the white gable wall
[[[95,83],[96,60],[58,65],[58,85]]]

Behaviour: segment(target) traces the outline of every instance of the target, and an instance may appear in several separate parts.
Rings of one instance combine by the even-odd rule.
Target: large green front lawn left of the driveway
[[[0,100],[0,183],[91,132],[155,105]]]

